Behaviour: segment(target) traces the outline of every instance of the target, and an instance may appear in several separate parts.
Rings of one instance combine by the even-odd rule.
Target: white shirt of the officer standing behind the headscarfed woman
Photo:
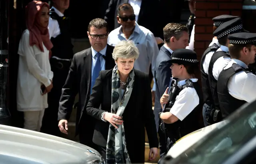
[[[54,11],[56,12],[56,14],[58,14],[58,16],[64,16],[63,13],[61,13],[59,10],[57,10],[53,6],[52,6],[52,9],[54,9]],[[49,30],[50,38],[52,37],[56,38],[58,35],[60,35],[60,26],[58,21],[50,18],[49,24],[48,24],[48,30]]]

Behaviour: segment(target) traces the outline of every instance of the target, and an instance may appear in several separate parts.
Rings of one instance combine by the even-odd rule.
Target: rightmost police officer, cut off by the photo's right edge
[[[248,64],[255,62],[256,33],[241,32],[231,34],[229,53],[231,61],[221,71],[217,83],[220,111],[223,119],[244,103],[256,99],[256,75]]]

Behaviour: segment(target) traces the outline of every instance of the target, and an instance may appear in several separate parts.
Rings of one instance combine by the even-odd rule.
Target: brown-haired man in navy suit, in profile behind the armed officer
[[[156,130],[158,130],[160,140],[160,157],[167,153],[166,138],[164,133],[159,128],[160,120],[158,114],[161,112],[160,98],[164,94],[166,88],[170,83],[172,65],[168,61],[172,57],[172,52],[176,49],[186,48],[188,46],[188,28],[182,24],[169,23],[164,27],[164,45],[160,48],[158,56],[156,57],[155,65],[155,80],[156,80],[156,98],[154,115],[156,121]]]

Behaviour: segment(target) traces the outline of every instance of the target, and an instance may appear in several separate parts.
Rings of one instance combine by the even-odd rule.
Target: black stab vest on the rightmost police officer
[[[246,101],[236,99],[228,93],[228,80],[232,75],[240,71],[244,71],[245,73],[251,73],[251,71],[248,71],[247,69],[244,69],[240,65],[234,63],[232,67],[223,70],[218,77],[218,81],[221,81],[221,83],[217,83],[217,89],[220,111],[222,113],[223,119],[228,117],[236,109],[246,103]]]

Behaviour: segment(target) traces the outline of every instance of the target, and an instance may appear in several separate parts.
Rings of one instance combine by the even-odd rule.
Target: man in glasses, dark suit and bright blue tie
[[[92,20],[87,34],[92,47],[76,53],[72,59],[66,83],[62,88],[58,126],[61,132],[68,133],[68,119],[78,93],[76,135],[79,134],[80,143],[96,149],[97,147],[92,142],[95,120],[83,112],[99,72],[112,69],[115,62],[112,58],[113,47],[107,44],[109,34],[107,22],[100,18]]]

